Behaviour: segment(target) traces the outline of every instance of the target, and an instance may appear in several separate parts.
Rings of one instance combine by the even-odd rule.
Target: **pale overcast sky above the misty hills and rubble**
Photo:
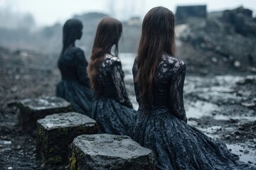
[[[206,4],[208,11],[220,11],[244,6],[256,12],[256,0],[0,0],[0,10],[31,13],[39,26],[63,23],[75,14],[98,11],[119,20],[131,16],[144,17],[154,6],[165,6],[176,11],[178,5]]]

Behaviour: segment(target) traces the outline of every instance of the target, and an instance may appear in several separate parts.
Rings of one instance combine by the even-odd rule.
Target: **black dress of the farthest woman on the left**
[[[56,86],[56,96],[69,101],[75,112],[89,115],[93,94],[87,77],[87,61],[78,47],[70,47],[58,60],[61,81]]]

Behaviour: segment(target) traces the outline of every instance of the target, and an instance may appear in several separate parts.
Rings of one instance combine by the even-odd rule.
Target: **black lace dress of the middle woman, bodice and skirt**
[[[105,55],[98,72],[100,95],[92,104],[92,115],[100,132],[127,135],[135,111],[124,86],[124,72],[118,57]]]

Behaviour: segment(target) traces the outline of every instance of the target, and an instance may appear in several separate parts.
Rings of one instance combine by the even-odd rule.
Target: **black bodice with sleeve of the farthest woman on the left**
[[[87,61],[84,52],[78,47],[70,47],[58,59],[58,68],[62,79],[78,81],[90,88],[87,77]]]

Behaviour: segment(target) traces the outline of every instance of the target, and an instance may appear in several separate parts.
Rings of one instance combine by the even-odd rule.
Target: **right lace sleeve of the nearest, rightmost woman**
[[[186,111],[183,104],[183,85],[186,75],[186,65],[183,64],[176,72],[176,78],[171,80],[170,101],[171,111],[177,118],[187,123]]]

